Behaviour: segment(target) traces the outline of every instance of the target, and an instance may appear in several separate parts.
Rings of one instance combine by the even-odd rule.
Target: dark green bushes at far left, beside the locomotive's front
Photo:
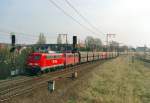
[[[24,73],[26,59],[32,52],[31,48],[22,49],[19,52],[10,52],[9,48],[0,49],[0,79],[10,77],[11,70]]]

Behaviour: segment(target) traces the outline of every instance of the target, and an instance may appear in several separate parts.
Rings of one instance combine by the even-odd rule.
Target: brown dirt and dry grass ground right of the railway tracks
[[[18,97],[11,103],[150,103],[150,69],[143,62],[119,57],[82,71],[77,80],[56,82],[50,94],[47,85]]]

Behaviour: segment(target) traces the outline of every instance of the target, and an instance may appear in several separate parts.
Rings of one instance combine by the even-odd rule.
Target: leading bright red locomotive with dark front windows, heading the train
[[[51,71],[51,68],[64,66],[63,53],[32,53],[27,59],[27,72]]]

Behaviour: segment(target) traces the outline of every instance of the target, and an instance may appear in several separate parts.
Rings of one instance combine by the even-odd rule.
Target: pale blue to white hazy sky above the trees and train
[[[122,45],[150,46],[149,0],[68,0],[96,28],[84,22],[65,0],[53,0],[85,29],[64,15],[49,0],[0,0],[0,42],[10,43],[9,32],[16,32],[17,43],[35,43],[44,33],[47,43],[56,43],[58,34],[68,34],[84,41],[86,36],[106,41],[104,34],[116,34]]]

